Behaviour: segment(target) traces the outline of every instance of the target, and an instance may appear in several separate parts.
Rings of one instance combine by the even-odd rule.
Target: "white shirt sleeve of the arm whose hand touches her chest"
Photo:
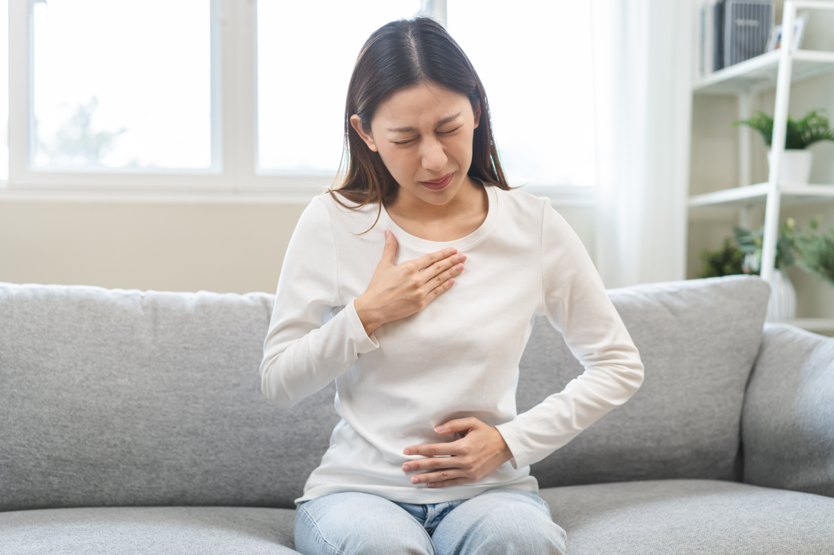
[[[260,364],[261,391],[281,408],[316,393],[360,354],[379,348],[353,300],[345,306],[339,298],[337,274],[330,216],[316,197],[289,240]]]

